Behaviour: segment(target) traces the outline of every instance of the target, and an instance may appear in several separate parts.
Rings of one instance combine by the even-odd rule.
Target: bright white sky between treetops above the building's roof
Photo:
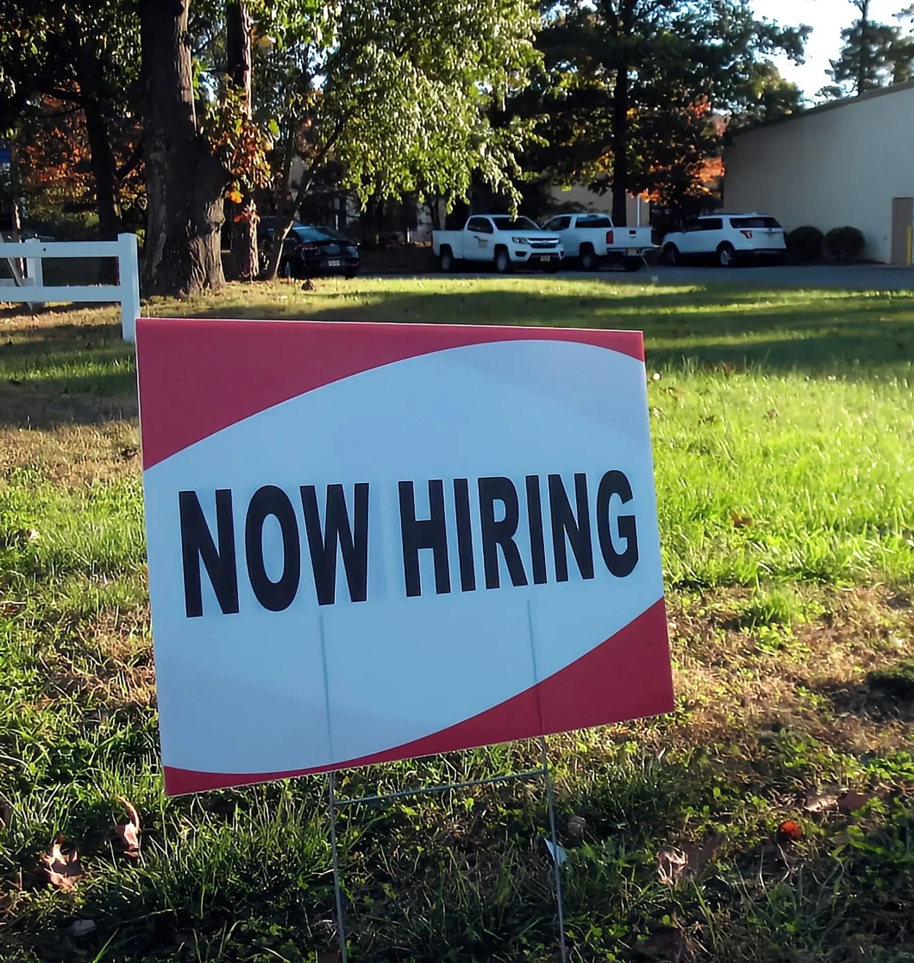
[[[829,60],[841,49],[841,31],[857,19],[857,8],[850,0],[750,0],[756,16],[776,20],[785,26],[805,23],[812,27],[806,41],[806,63],[791,64],[786,58],[775,63],[781,75],[794,81],[811,99],[831,78],[825,73]],[[897,20],[893,14],[909,6],[910,0],[871,0],[870,16],[877,23],[900,24],[909,29],[910,20]]]

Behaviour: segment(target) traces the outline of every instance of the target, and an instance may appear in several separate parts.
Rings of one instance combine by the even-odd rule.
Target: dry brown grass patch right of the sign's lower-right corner
[[[687,711],[671,734],[676,741],[697,745],[789,727],[839,751],[910,747],[914,717],[870,712],[866,678],[914,654],[914,610],[884,587],[816,595],[823,614],[778,627],[783,647],[773,651],[760,647],[758,629],[736,627],[747,592],[672,600],[674,684]],[[858,693],[855,702],[834,697],[848,690]]]

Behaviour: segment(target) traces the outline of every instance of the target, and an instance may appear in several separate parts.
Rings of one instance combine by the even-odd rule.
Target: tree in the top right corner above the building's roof
[[[841,32],[844,45],[828,74],[833,85],[820,94],[829,97],[865,93],[914,76],[914,37],[896,24],[874,23],[870,0],[852,0],[859,17]],[[898,14],[909,16],[910,11]]]

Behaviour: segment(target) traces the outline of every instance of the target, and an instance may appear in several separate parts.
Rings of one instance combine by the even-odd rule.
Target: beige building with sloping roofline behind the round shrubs
[[[911,263],[914,81],[737,134],[723,159],[726,210],[788,230],[857,227],[865,256]]]

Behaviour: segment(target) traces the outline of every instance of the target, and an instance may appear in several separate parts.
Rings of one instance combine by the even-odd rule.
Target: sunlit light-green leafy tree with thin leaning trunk
[[[287,0],[266,5],[254,114],[274,123],[279,225],[269,274],[301,203],[332,167],[373,195],[468,195],[474,172],[517,196],[531,125],[494,125],[526,83],[538,22],[527,0]]]

